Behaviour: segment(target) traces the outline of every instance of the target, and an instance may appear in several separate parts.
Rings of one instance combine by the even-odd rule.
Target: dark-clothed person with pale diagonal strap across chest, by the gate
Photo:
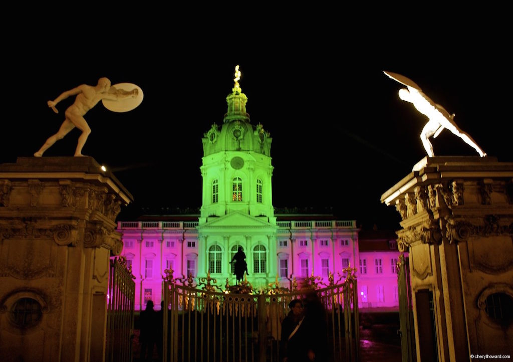
[[[290,312],[282,322],[280,356],[283,362],[307,362],[310,332],[306,328],[303,302],[293,299],[289,303]]]

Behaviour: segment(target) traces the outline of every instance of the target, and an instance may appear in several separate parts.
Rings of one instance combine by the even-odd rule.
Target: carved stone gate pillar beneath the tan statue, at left
[[[0,356],[101,361],[114,222],[132,196],[90,157],[0,165]]]

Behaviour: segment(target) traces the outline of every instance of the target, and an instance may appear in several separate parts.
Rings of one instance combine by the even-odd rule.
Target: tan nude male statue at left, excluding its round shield
[[[91,128],[89,128],[89,125],[83,116],[89,111],[89,109],[94,107],[103,99],[116,101],[129,97],[135,98],[137,97],[137,94],[139,94],[139,90],[137,88],[132,89],[131,91],[116,89],[115,87],[111,87],[110,81],[107,78],[100,78],[98,80],[98,84],[95,87],[82,84],[76,88],[65,91],[60,96],[55,98],[55,100],[48,101],[48,107],[52,108],[55,113],[58,113],[57,108],[55,108],[57,103],[68,98],[69,96],[74,96],[75,94],[75,102],[69,106],[68,109],[66,109],[66,112],[64,113],[66,119],[61,125],[61,128],[59,128],[55,135],[50,136],[50,138],[46,140],[45,144],[40,148],[40,150],[34,154],[35,157],[43,156],[43,153],[48,148],[50,148],[57,140],[60,140],[66,136],[69,131],[75,127],[82,131],[82,135],[78,137],[78,143],[76,145],[74,156],[83,156],[82,148],[86,143],[87,137],[91,133]]]

